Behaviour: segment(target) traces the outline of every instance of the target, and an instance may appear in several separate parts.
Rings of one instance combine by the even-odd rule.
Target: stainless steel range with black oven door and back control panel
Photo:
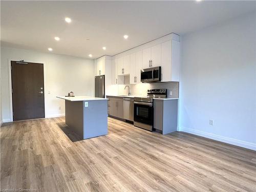
[[[147,90],[146,97],[134,97],[134,126],[153,131],[154,98],[165,98],[167,89]]]

